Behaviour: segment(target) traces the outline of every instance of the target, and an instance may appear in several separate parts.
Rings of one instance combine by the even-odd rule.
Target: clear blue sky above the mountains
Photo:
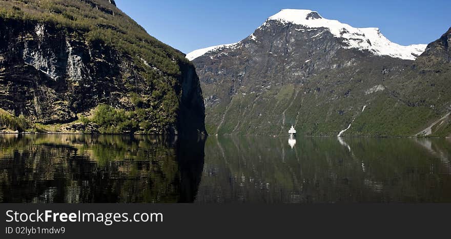
[[[284,8],[310,9],[353,27],[378,27],[392,42],[427,44],[451,27],[450,0],[116,0],[160,41],[189,53],[247,37]]]

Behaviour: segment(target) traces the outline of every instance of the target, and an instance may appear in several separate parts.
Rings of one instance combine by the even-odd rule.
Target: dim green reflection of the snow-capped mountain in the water
[[[451,202],[451,139],[209,137],[196,202]]]

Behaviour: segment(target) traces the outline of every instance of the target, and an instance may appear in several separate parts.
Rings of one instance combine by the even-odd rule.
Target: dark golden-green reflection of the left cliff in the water
[[[0,202],[193,202],[203,168],[201,140],[0,135],[0,148]]]

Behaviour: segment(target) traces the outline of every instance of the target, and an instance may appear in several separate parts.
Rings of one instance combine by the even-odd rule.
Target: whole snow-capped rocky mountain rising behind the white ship
[[[446,113],[448,94],[437,100],[416,88],[412,59],[425,45],[299,11],[270,17],[239,43],[187,55],[211,134],[285,135],[295,125],[302,135],[413,135]]]

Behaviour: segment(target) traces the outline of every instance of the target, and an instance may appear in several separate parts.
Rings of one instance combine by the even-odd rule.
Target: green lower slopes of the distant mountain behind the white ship
[[[293,124],[299,135],[336,136],[354,120],[344,136],[414,136],[449,112],[449,64],[424,73],[421,68],[407,69],[388,76],[378,70],[383,66],[360,67],[357,72],[354,68],[321,72],[302,85],[280,84],[254,93],[248,86],[240,88],[230,102],[207,108],[209,132],[286,135]],[[382,90],[369,93],[375,86]],[[204,94],[218,94],[219,87],[203,84]],[[428,136],[450,135],[448,125],[446,121],[433,127]]]

